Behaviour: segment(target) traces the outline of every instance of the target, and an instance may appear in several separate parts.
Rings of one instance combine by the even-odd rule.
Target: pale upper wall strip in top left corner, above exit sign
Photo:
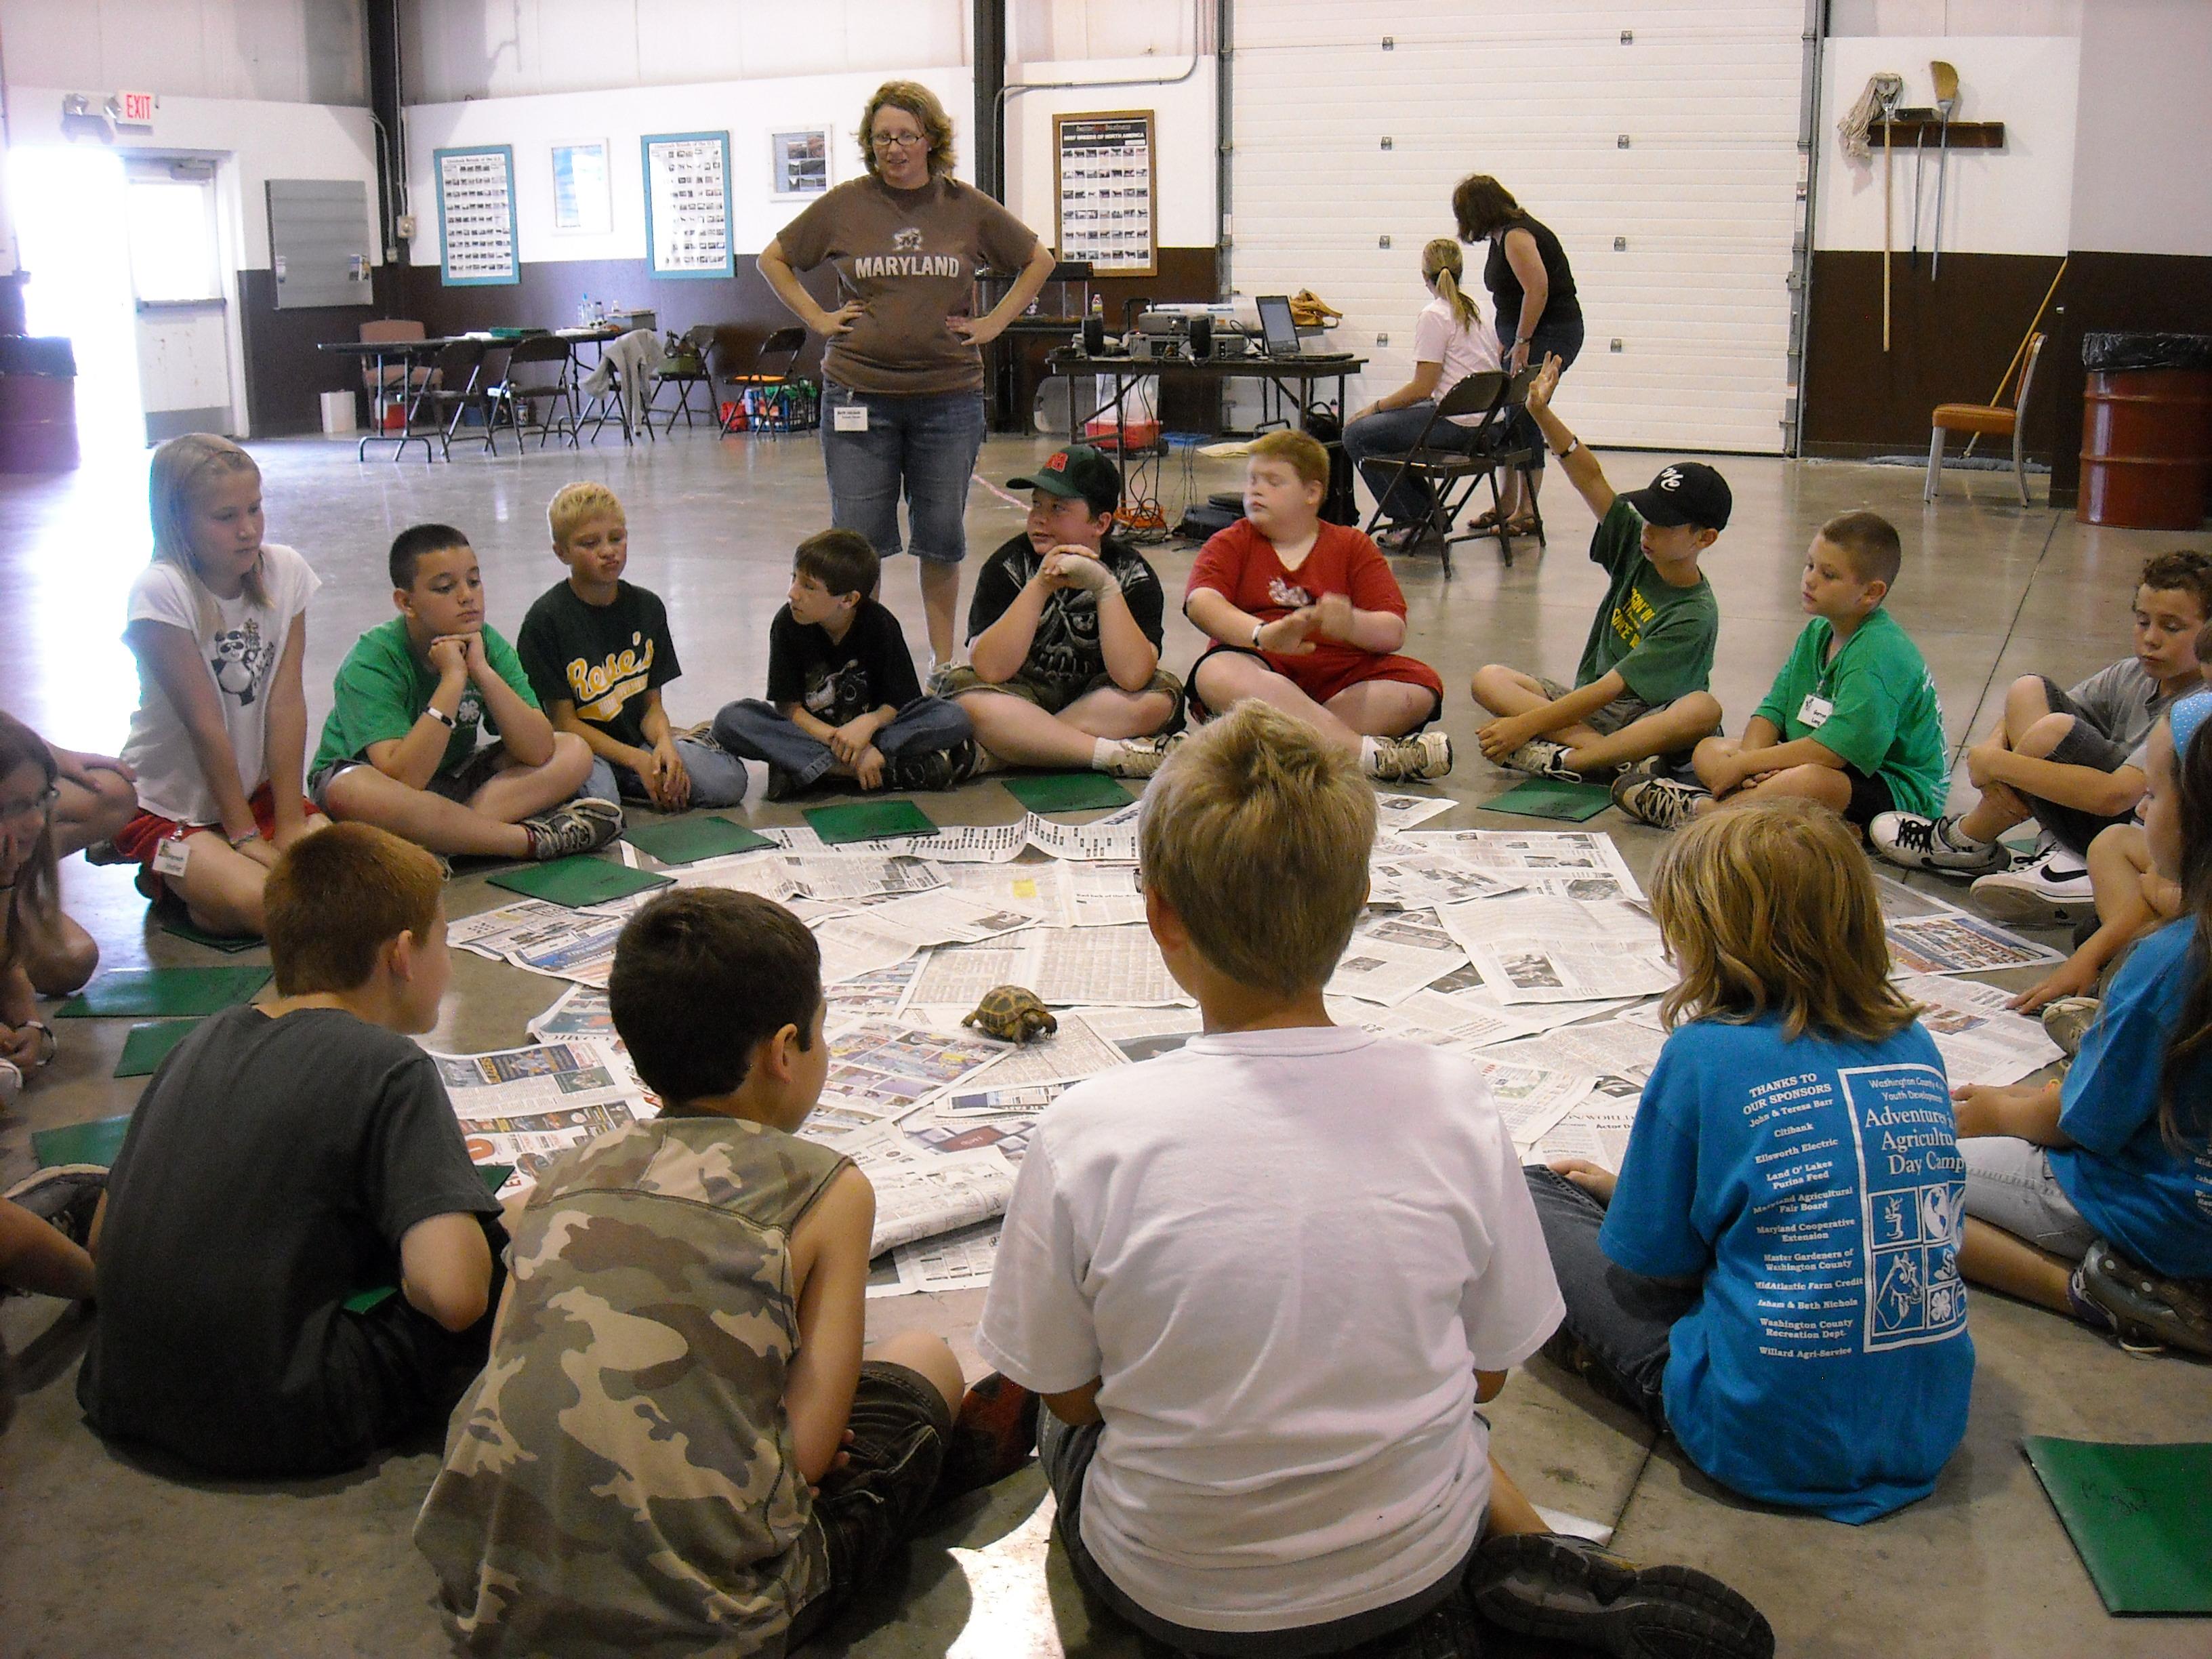
[[[0,42],[27,86],[369,102],[363,0],[0,0]]]

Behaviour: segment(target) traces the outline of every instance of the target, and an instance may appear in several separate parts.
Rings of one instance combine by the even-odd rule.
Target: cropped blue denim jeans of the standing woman
[[[838,431],[836,411],[867,409],[867,431]],[[982,453],[982,392],[885,396],[823,380],[823,469],[830,522],[860,531],[878,555],[905,549],[898,495],[907,495],[914,555],[933,564],[967,557],[967,491]]]

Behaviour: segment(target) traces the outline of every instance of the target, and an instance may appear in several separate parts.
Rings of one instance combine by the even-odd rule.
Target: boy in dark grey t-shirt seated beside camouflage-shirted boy
[[[445,1422],[482,1367],[498,1203],[414,1042],[451,975],[442,887],[369,825],[276,860],[276,1000],[161,1062],[93,1219],[77,1402],[100,1436],[215,1475],[334,1473]]]

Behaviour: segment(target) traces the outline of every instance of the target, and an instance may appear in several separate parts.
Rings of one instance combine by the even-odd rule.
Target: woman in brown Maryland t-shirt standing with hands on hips
[[[951,661],[969,476],[982,451],[982,352],[1053,274],[1029,226],[953,177],[953,124],[936,93],[885,82],[860,119],[865,179],[830,190],[761,250],[761,274],[823,354],[830,518],[876,553],[902,551],[907,498],[933,668]],[[825,312],[796,272],[834,265],[845,303]],[[975,272],[1020,270],[987,316]]]

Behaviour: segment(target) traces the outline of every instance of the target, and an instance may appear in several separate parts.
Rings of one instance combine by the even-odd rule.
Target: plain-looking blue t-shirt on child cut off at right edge
[[[2197,1135],[2177,1152],[2159,1133],[2166,1048],[2201,962],[2197,922],[2168,922],[2119,964],[2097,1024],[2066,1073],[2059,1133],[2081,1150],[2051,1152],[2051,1175],[2097,1237],[2170,1279],[2212,1279],[2212,1150]],[[2212,1062],[2183,1079],[2212,1095]]]

